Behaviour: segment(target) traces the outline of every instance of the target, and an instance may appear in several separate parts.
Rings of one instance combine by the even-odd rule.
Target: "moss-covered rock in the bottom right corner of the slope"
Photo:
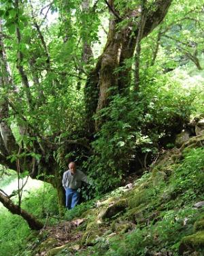
[[[204,231],[199,231],[191,236],[185,236],[180,243],[180,255],[183,255],[185,252],[198,250],[203,250],[204,252]]]

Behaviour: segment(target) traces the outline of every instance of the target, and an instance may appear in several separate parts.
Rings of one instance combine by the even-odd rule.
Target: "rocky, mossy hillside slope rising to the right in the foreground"
[[[29,241],[31,255],[204,255],[204,134]],[[27,254],[28,255],[28,254]]]

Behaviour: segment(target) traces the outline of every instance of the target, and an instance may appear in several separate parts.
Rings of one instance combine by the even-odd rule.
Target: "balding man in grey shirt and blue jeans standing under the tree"
[[[66,195],[66,208],[72,209],[80,201],[79,188],[82,186],[82,182],[89,183],[86,175],[76,169],[75,162],[69,162],[69,170],[63,174],[63,187],[65,188]]]

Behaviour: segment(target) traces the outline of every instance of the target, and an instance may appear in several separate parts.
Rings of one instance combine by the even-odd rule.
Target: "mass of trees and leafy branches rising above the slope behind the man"
[[[197,91],[169,71],[202,70],[202,21],[197,0],[1,0],[1,165],[59,205],[70,160],[96,193],[146,168],[188,122]]]

